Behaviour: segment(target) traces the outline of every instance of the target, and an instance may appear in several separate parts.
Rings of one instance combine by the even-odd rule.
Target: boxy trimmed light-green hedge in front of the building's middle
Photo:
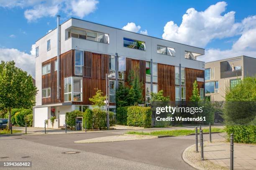
[[[127,108],[127,125],[149,128],[151,127],[151,108],[131,106]]]

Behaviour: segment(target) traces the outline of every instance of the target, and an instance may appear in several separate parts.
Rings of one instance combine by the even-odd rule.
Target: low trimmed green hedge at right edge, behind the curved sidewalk
[[[256,143],[256,125],[227,125],[225,130],[228,133],[227,140],[233,133],[236,143]]]

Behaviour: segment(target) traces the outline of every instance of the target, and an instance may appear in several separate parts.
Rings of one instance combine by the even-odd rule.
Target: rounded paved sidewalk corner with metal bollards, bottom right
[[[198,148],[200,151],[200,147]],[[200,160],[200,152],[195,152],[195,145],[183,153],[184,161],[200,170],[228,170],[230,168],[230,143],[215,140],[204,143],[204,161]],[[234,170],[256,170],[256,145],[234,144]]]

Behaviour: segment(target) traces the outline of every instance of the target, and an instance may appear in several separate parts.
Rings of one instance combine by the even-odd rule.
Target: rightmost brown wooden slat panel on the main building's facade
[[[192,68],[186,68],[186,100],[188,101],[192,95],[193,83],[197,77],[204,78],[205,71]],[[197,82],[198,88],[205,88],[204,82]]]

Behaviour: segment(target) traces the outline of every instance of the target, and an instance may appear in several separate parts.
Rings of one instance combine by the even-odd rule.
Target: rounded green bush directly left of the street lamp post
[[[95,107],[93,110],[93,120],[94,120],[94,128],[95,129],[103,129],[107,127],[107,116],[106,112],[101,110],[98,107]]]

